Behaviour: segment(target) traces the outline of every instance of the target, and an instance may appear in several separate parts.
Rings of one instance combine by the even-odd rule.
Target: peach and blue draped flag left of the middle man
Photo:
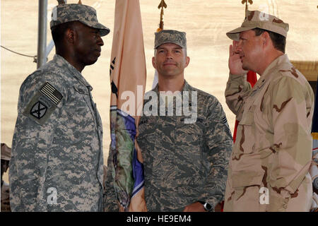
[[[111,170],[121,211],[146,210],[143,164],[136,149],[136,129],[142,114],[146,59],[139,0],[117,0],[110,59]],[[129,204],[131,205],[129,207]]]

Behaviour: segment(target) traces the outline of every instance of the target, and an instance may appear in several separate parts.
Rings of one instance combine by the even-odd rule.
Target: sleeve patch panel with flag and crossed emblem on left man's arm
[[[53,85],[45,83],[30,100],[23,114],[33,119],[37,124],[43,125],[51,117],[54,110],[59,107],[62,98],[61,93]]]

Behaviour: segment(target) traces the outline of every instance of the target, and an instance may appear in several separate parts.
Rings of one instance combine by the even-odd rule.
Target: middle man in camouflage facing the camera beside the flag
[[[189,64],[186,48],[185,32],[155,33],[153,66],[159,83],[146,94],[137,136],[148,211],[214,210],[224,197],[232,136],[216,97],[184,80],[184,68]],[[187,109],[195,115],[186,116],[182,101],[173,101],[172,97],[170,101],[165,97],[159,100],[161,91],[171,91],[176,99],[186,102],[183,105],[189,103]],[[189,102],[185,100],[187,92]],[[174,113],[167,113],[169,109]],[[183,112],[177,115],[179,110]],[[107,193],[106,210],[116,210],[114,194]]]

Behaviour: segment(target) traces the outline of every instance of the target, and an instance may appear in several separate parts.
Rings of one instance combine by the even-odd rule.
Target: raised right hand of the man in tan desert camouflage
[[[240,54],[237,52],[237,41],[233,40],[233,44],[230,44],[230,56],[228,58],[228,68],[230,69],[230,74],[232,75],[243,75],[247,73],[242,69],[242,62],[240,59]]]

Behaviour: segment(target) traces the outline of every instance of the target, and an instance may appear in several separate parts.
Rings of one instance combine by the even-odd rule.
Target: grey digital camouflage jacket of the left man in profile
[[[40,125],[23,112],[47,82],[63,98]],[[57,54],[21,85],[9,170],[13,211],[102,211],[102,121],[92,89]],[[50,187],[57,204],[47,202]]]

